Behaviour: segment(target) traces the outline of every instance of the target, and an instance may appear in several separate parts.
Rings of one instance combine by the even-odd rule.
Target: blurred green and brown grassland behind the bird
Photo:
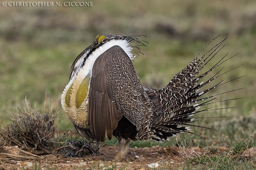
[[[245,77],[213,92],[246,87],[220,97],[244,98],[215,105],[238,108],[203,115],[229,116],[198,123],[216,131],[196,128],[193,131],[204,138],[190,134],[182,137],[197,146],[218,139],[224,141],[222,145],[229,145],[233,139],[252,139],[256,129],[255,7],[255,0],[95,0],[92,7],[0,6],[0,123],[6,124],[18,105],[26,106],[25,96],[32,106],[42,109],[47,93],[48,102],[53,99],[55,110],[60,112],[59,130],[73,128],[61,108],[60,95],[75,57],[96,35],[146,35],[142,39],[149,47],[142,47],[145,56],[135,59],[134,67],[143,85],[162,88],[221,34],[213,45],[227,36],[228,40],[214,62],[227,52],[230,56],[239,53],[225,63],[225,69],[245,64],[224,78]]]

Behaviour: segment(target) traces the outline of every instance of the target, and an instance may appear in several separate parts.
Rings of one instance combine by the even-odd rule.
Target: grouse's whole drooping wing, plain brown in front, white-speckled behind
[[[145,94],[132,61],[120,46],[100,55],[92,68],[88,117],[92,136],[103,142],[124,115],[137,128],[144,120],[142,94]]]

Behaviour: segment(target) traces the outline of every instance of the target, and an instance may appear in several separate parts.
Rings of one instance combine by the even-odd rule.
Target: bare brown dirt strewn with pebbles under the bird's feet
[[[185,157],[182,157],[178,147],[151,148],[129,148],[125,159],[122,162],[115,162],[113,159],[118,147],[101,147],[102,155],[94,157],[63,159],[62,155],[43,155],[34,157],[33,155],[21,156],[14,152],[0,154],[0,170],[21,170],[21,169],[152,169],[149,164],[157,169],[182,169]],[[189,151],[189,150],[187,150]],[[207,154],[206,149],[194,148],[198,154]],[[24,155],[24,154],[23,154]],[[154,164],[157,163],[157,164]]]

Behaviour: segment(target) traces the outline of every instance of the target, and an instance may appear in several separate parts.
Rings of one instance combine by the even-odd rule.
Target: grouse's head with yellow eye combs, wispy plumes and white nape
[[[135,36],[120,36],[120,35],[97,35],[96,39],[92,42],[92,44],[87,47],[84,51],[82,51],[73,62],[70,68],[69,79],[71,79],[79,70],[84,66],[86,61],[90,58],[90,60],[95,61],[98,56],[100,56],[103,52],[114,45],[119,45],[122,49],[127,53],[127,55],[132,60],[136,57],[132,54],[132,51],[138,55],[140,52],[140,46],[146,46],[148,42],[139,40],[138,37],[144,35],[135,35]],[[132,45],[134,44],[134,45]],[[133,50],[137,49],[137,50]],[[94,63],[94,62],[93,62]],[[88,68],[89,70],[92,68],[92,65]]]

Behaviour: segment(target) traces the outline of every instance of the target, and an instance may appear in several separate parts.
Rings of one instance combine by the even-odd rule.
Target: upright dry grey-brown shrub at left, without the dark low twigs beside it
[[[49,112],[46,111],[44,102],[43,112],[37,112],[27,103],[27,110],[18,108],[18,112],[12,115],[11,121],[0,130],[0,144],[6,146],[17,145],[25,151],[35,154],[52,153],[51,141],[54,137],[53,126],[58,113],[53,113],[52,102]]]

